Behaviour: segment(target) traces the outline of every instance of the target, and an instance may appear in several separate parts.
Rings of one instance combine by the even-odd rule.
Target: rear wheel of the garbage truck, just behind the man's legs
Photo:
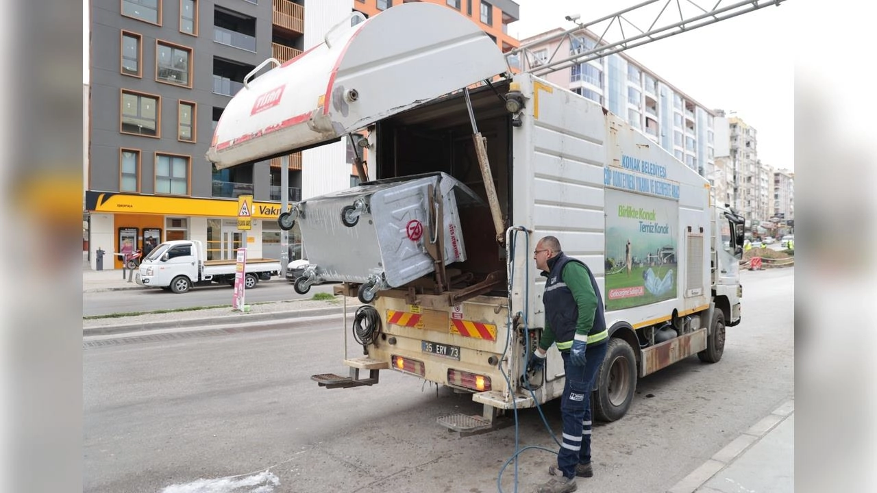
[[[637,390],[637,357],[624,339],[610,339],[597,372],[594,418],[617,421],[631,407]]]

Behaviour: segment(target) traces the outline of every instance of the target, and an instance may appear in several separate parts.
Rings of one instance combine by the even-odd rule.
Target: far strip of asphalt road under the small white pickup
[[[162,289],[121,289],[82,294],[82,316],[155,311],[197,306],[232,305],[234,289],[216,284],[193,288],[188,293],[175,294]],[[332,293],[332,284],[311,286],[305,295],[292,289],[292,282],[282,279],[260,281],[255,288],[246,290],[246,303],[310,299],[316,293]]]

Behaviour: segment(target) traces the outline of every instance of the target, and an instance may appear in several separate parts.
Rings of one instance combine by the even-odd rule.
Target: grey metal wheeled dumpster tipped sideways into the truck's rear
[[[291,217],[310,261],[296,292],[315,282],[360,283],[360,301],[370,303],[382,289],[430,274],[437,261],[465,261],[458,206],[467,204],[483,202],[445,173],[365,182],[296,204]]]

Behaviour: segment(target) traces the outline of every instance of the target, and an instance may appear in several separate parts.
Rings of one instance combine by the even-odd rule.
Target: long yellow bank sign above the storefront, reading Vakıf
[[[276,219],[280,216],[280,204],[253,202],[251,196],[250,203],[247,205],[251,219]],[[239,200],[223,198],[131,195],[89,190],[85,192],[85,208],[92,212],[113,214],[128,212],[167,216],[240,218]]]

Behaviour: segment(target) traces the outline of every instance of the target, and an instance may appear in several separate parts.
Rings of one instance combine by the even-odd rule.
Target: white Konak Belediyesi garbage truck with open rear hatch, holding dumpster
[[[610,342],[595,418],[622,418],[638,377],[722,358],[741,319],[744,220],[707,180],[600,104],[512,73],[459,13],[411,3],[358,20],[247,75],[207,153],[222,169],[354,147],[363,182],[279,218],[309,254],[296,290],[339,281],[362,303],[341,328],[362,352],[345,346],[347,375],[313,375],[318,385],[379,389],[381,371],[398,371],[470,392],[481,414],[439,418],[464,433],[560,397],[559,352],[526,368],[545,326],[531,258],[545,235],[602,292]]]

